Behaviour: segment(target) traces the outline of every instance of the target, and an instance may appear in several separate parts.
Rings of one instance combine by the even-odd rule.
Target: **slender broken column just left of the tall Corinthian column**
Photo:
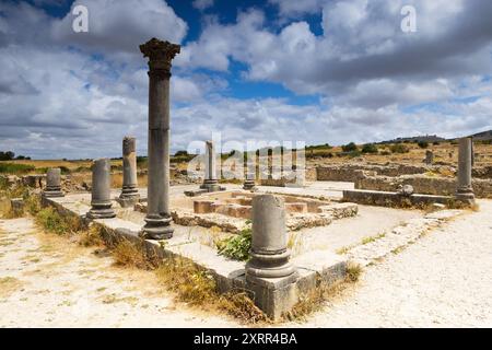
[[[127,136],[122,140],[122,166],[124,182],[119,202],[122,207],[129,207],[140,198],[137,180],[136,139],[133,137]]]

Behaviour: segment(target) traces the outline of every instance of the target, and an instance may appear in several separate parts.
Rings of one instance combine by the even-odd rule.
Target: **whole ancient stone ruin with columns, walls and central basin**
[[[268,163],[266,168],[257,167],[255,156],[248,158],[241,184],[231,183],[226,188],[219,185],[215,144],[207,141],[204,178],[199,188],[195,184],[171,187],[169,79],[172,60],[180,47],[152,38],[140,50],[149,58],[147,190],[139,188],[137,180],[136,138],[125,137],[121,188],[110,188],[108,159],[94,161],[90,196],[79,191],[63,197],[60,170],[50,168],[43,191],[45,205],[85,223],[97,222],[105,228],[108,242],[125,237],[153,257],[191,259],[210,271],[221,292],[246,290],[274,319],[289,313],[319,283],[330,285],[343,279],[351,261],[368,265],[429,226],[458,214],[403,212],[388,207],[429,205],[443,209],[454,201],[472,205],[477,194],[492,195],[488,171],[477,173],[473,168],[470,138],[459,141],[459,162],[454,172],[447,165],[437,165],[432,152],[426,153],[425,164],[419,158],[419,165],[304,166],[296,160],[284,166],[273,164],[273,158],[267,154],[260,160]],[[453,176],[434,175],[440,171]],[[473,179],[473,174],[480,178]],[[373,206],[384,208],[375,211]],[[354,222],[376,214],[385,220],[376,220],[367,230],[373,230],[377,238],[364,241],[361,247],[364,237],[361,230],[354,230]],[[414,224],[411,220],[417,217],[425,224]],[[409,221],[401,224],[405,220]],[[216,232],[221,238],[230,238],[248,230],[247,261],[219,254]],[[387,233],[383,235],[382,231]],[[370,249],[379,238],[379,245]]]

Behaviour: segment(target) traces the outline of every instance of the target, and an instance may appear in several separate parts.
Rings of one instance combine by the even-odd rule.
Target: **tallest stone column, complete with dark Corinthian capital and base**
[[[171,61],[180,46],[152,38],[140,45],[149,58],[149,179],[144,238],[173,236],[169,211],[169,79]]]

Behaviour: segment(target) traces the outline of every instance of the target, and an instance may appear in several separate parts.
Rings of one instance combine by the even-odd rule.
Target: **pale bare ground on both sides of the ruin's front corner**
[[[492,327],[492,201],[366,268],[292,327]],[[1,327],[238,327],[173,302],[152,272],[113,266],[31,219],[0,220]]]

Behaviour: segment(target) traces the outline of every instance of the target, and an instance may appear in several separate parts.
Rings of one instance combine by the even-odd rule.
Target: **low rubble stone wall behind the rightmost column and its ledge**
[[[356,189],[396,191],[400,185],[411,185],[417,194],[453,196],[456,192],[456,179],[425,175],[405,175],[399,177],[365,176],[355,182]],[[473,190],[478,198],[492,198],[491,179],[473,179]]]

